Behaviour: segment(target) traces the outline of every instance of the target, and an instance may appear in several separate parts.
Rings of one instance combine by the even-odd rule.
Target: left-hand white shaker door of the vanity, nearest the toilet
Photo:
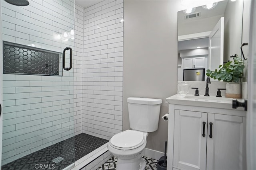
[[[207,113],[175,110],[174,129],[173,165],[178,169],[205,170]]]

